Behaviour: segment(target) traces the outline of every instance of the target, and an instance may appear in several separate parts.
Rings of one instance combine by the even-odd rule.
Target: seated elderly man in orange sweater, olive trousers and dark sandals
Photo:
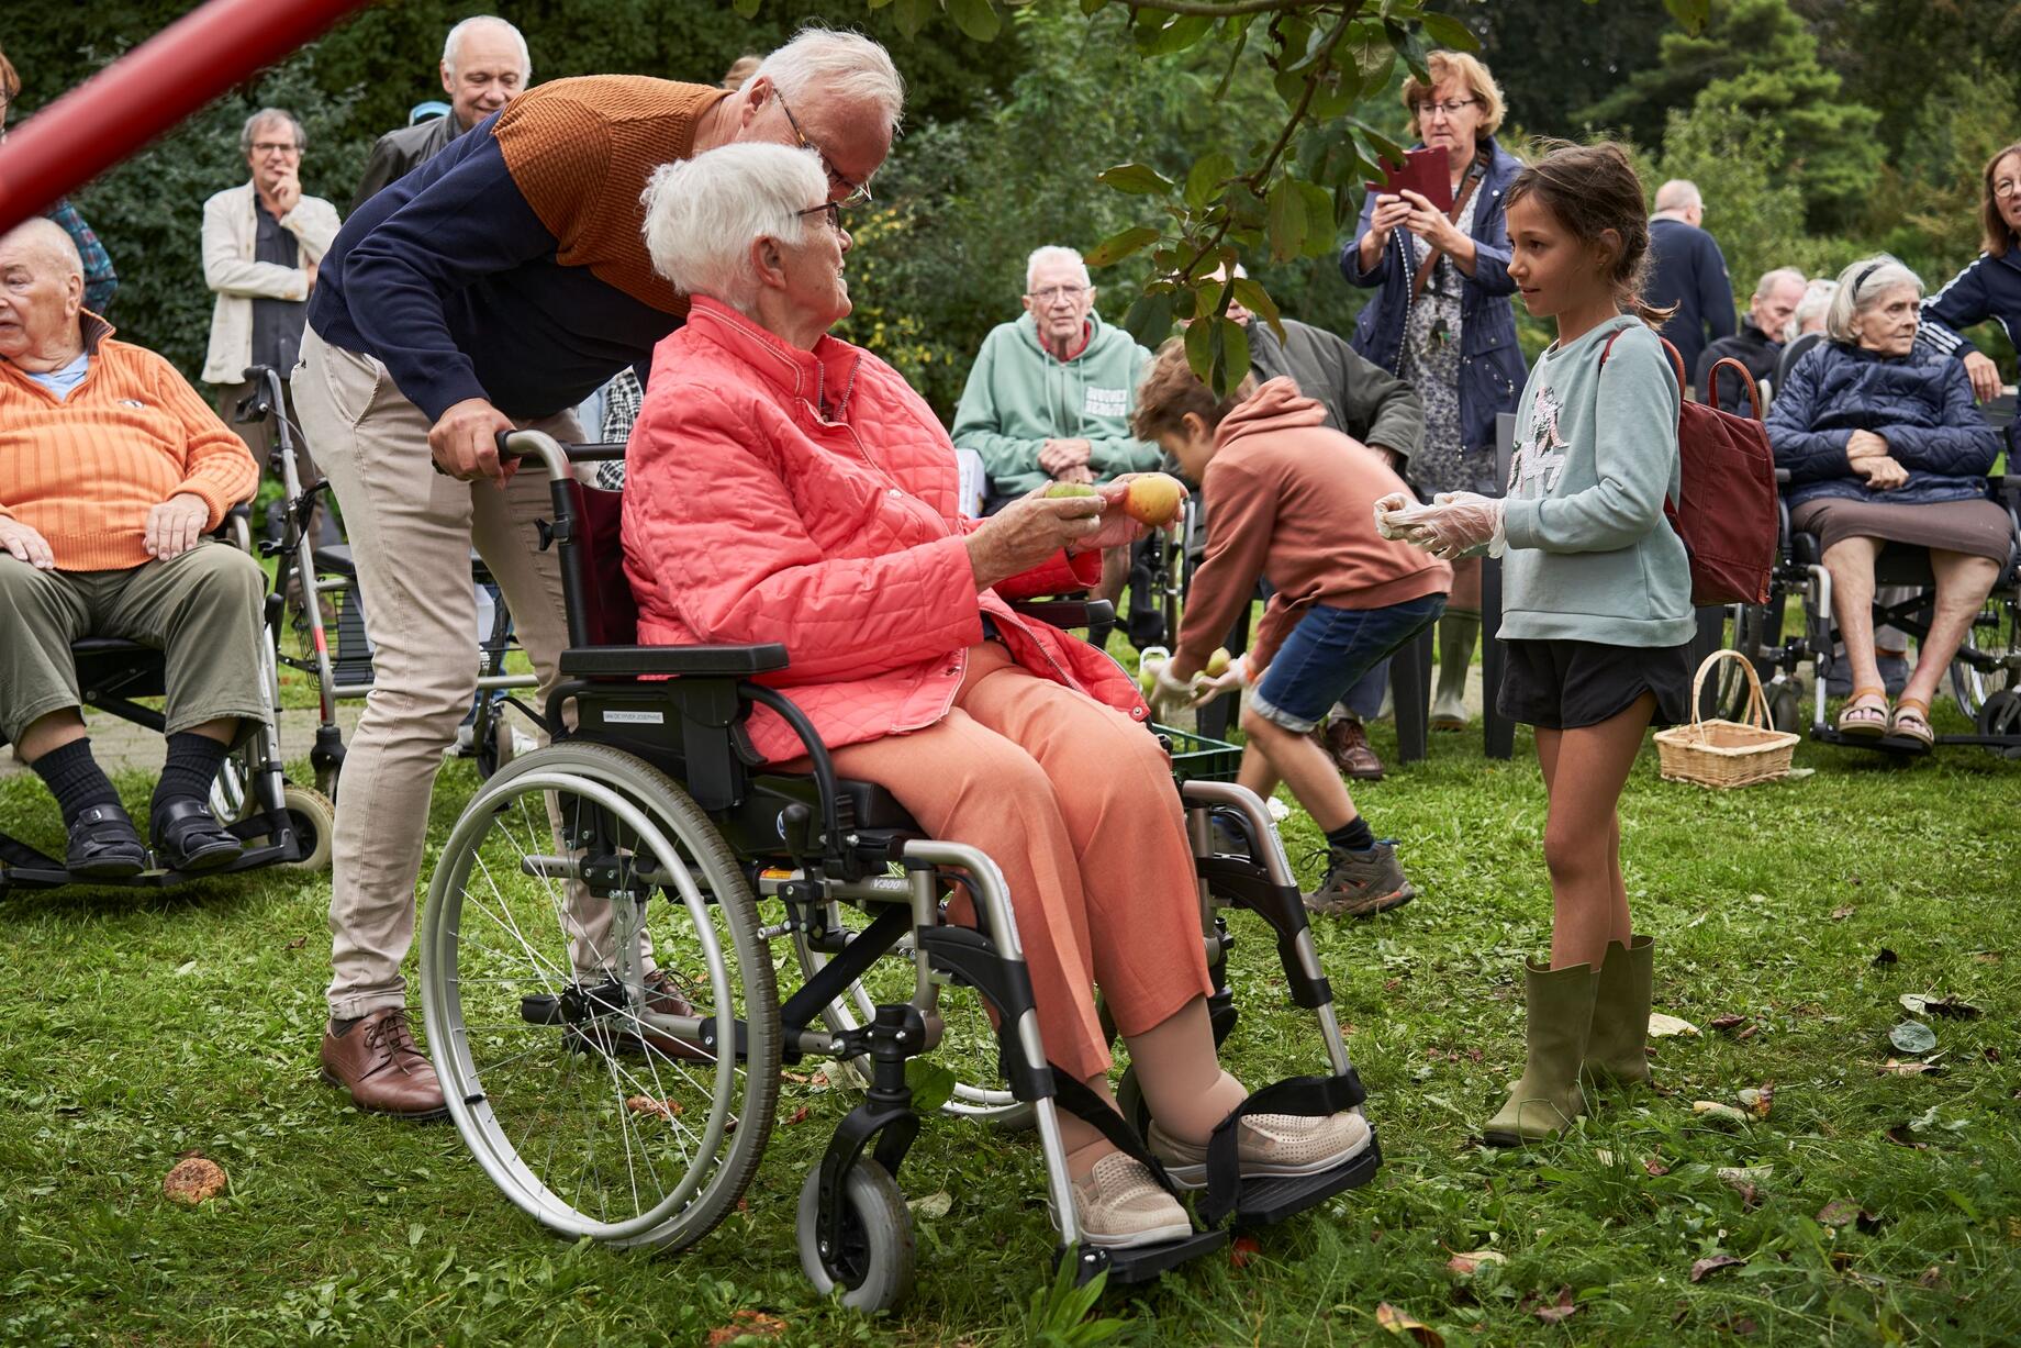
[[[168,766],[150,825],[162,865],[206,871],[240,853],[210,782],[267,705],[259,564],[204,534],[253,495],[259,465],[174,366],[83,309],[83,273],[49,220],[0,236],[0,734],[63,806],[69,871],[137,875],[148,851],[91,758],[71,643],[162,647]]]

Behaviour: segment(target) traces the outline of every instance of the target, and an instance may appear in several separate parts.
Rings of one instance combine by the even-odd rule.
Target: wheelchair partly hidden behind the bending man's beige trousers
[[[338,701],[362,699],[372,691],[372,643],[366,637],[364,604],[358,596],[358,564],[350,544],[317,544],[309,532],[317,497],[329,491],[327,481],[305,483],[301,463],[295,453],[297,428],[285,414],[281,398],[281,372],[271,366],[249,366],[247,382],[253,392],[240,400],[236,420],[240,424],[261,422],[269,416],[275,424],[267,467],[281,483],[281,501],[275,511],[279,525],[261,540],[261,556],[275,558],[275,586],[267,596],[267,629],[273,635],[275,659],[283,669],[295,669],[315,681],[317,726],[315,744],[309,748],[309,766],[315,770],[315,788],[335,798],[338,776],[344,770],[344,730],[338,726]],[[289,590],[297,576],[313,578],[303,582],[301,598],[291,602]],[[495,584],[485,570],[483,558],[471,552],[471,582],[479,588]],[[311,596],[313,590],[313,596]],[[323,606],[331,610],[325,624]],[[303,653],[289,653],[283,635],[293,627],[303,635]],[[483,624],[477,641],[477,687],[479,699],[471,726],[471,744],[477,758],[479,778],[487,778],[513,756],[513,728],[505,715],[505,701],[513,691],[540,685],[532,673],[507,673],[505,657],[513,651],[511,612],[503,602],[493,604],[491,620]],[[530,719],[532,709],[513,701]]]

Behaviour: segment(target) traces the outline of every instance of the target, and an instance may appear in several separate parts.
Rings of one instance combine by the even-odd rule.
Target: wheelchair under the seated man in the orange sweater
[[[232,509],[212,538],[251,552],[247,507]],[[273,596],[269,596],[271,602]],[[71,659],[77,665],[83,705],[109,711],[154,732],[166,730],[162,711],[139,701],[162,697],[168,691],[164,657],[158,649],[117,637],[87,637],[71,645]],[[261,643],[261,679],[267,685],[273,713],[226,756],[218,780],[210,788],[210,812],[247,845],[236,861],[188,875],[156,865],[150,851],[150,865],[139,875],[73,879],[61,857],[51,857],[0,831],[0,895],[16,887],[61,889],[69,883],[160,889],[180,885],[186,879],[232,875],[273,865],[301,871],[325,869],[329,865],[333,806],[327,796],[289,782],[283,772],[281,738],[275,732],[281,685],[271,633]],[[0,746],[4,744],[6,738],[0,736]]]

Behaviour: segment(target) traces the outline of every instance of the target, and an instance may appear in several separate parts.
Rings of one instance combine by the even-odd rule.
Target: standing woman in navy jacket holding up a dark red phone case
[[[1421,192],[1370,192],[1356,240],[1340,255],[1354,285],[1374,287],[1354,327],[1354,350],[1417,388],[1425,449],[1401,471],[1423,495],[1500,495],[1496,414],[1514,412],[1528,378],[1516,346],[1510,238],[1502,198],[1522,170],[1496,143],[1502,87],[1479,59],[1435,51],[1431,83],[1405,81],[1417,150],[1443,150],[1451,208]],[[1481,635],[1481,564],[1453,566],[1453,598],[1439,620],[1439,689],[1433,730],[1467,724],[1467,667]]]

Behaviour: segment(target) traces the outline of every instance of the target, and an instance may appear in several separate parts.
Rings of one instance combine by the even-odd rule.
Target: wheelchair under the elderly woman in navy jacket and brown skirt
[[[1778,469],[1776,481],[1789,483],[1789,471]],[[2007,760],[2021,760],[2021,475],[1989,479],[1989,493],[2007,507],[2013,525],[2007,562],[1993,582],[1979,618],[1975,618],[1956,657],[1950,661],[1948,685],[1958,709],[1972,719],[1972,734],[1936,736],[1938,746],[1977,746]],[[1930,556],[1922,548],[1890,544],[1873,566],[1875,586],[1912,588],[1902,602],[1873,602],[1873,624],[1894,627],[1922,641],[1930,633],[1936,602],[1936,578]],[[1795,635],[1785,631],[1789,598],[1801,600],[1803,616]],[[1789,503],[1781,505],[1776,562],[1768,580],[1766,604],[1742,604],[1732,612],[1734,649],[1754,661],[1768,695],[1768,711],[1776,730],[1805,730],[1805,691],[1797,677],[1803,661],[1813,663],[1809,738],[1817,744],[1863,748],[1894,758],[1928,754],[1930,750],[1904,736],[1845,736],[1825,717],[1825,679],[1837,659],[1833,655],[1839,629],[1831,616],[1831,572],[1823,564],[1823,546],[1815,534],[1791,527]],[[1740,719],[1748,689],[1738,677],[1724,677],[1718,693],[1718,713]]]

